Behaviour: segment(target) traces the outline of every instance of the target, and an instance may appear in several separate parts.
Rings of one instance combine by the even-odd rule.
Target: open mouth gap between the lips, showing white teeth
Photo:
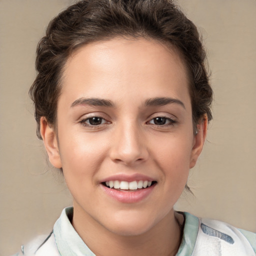
[[[102,185],[119,191],[138,191],[150,187],[155,183],[157,182],[154,180],[133,180],[131,182],[124,180],[109,180],[101,182]]]

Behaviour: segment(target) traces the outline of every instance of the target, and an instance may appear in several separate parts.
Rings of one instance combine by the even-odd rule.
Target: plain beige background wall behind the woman
[[[71,0],[0,0],[0,255],[48,233],[71,197],[46,163],[28,88],[45,26]],[[180,210],[256,231],[256,1],[179,0],[208,49],[208,141]]]

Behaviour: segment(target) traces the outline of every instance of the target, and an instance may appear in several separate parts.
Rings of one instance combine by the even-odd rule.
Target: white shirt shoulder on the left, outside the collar
[[[14,256],[59,256],[53,232],[48,236],[40,235],[28,244],[22,245],[21,250]]]

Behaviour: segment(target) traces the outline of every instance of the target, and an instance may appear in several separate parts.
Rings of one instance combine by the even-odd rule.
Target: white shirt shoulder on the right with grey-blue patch
[[[184,217],[184,232],[189,236],[192,228],[196,233],[192,256],[255,256],[256,233],[222,221],[197,218],[189,213],[184,213]]]

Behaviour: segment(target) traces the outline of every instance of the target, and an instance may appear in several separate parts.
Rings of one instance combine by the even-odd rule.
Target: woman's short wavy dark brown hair
[[[189,73],[194,128],[205,114],[212,118],[205,51],[195,25],[171,0],[81,0],[50,21],[37,45],[37,76],[29,94],[40,139],[40,117],[55,123],[62,69],[70,53],[114,36],[153,38],[176,48]]]

